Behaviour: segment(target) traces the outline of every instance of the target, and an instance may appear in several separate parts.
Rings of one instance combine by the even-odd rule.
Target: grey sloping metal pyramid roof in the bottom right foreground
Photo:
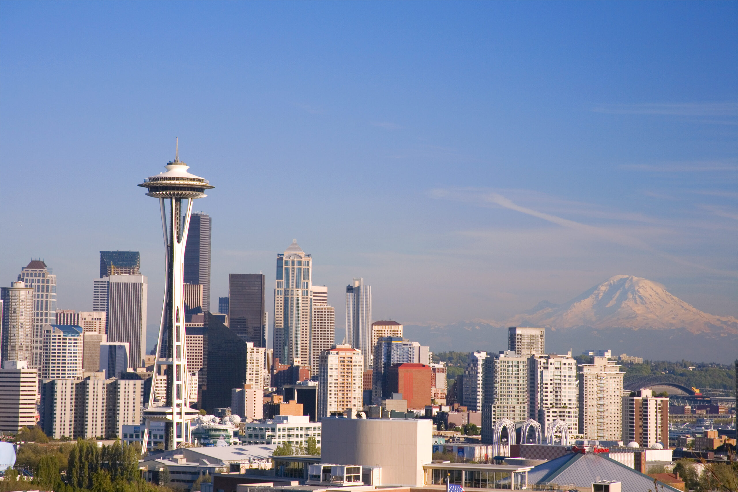
[[[653,488],[653,479],[610,457],[595,453],[571,453],[551,460],[528,472],[528,483],[576,484],[590,488],[593,482],[614,480],[621,482],[622,492],[643,492]],[[677,491],[658,482],[668,491]]]

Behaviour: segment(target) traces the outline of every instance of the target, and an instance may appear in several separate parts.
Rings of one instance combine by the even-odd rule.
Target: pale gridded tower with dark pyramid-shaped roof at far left
[[[29,367],[41,367],[41,346],[44,325],[56,323],[56,275],[41,260],[31,260],[21,268],[18,282],[34,290],[33,302],[33,360]]]

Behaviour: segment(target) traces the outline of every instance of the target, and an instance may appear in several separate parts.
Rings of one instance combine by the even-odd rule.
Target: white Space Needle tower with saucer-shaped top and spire
[[[151,422],[165,423],[164,449],[170,450],[179,448],[184,443],[190,443],[190,421],[198,415],[196,409],[190,408],[187,381],[182,295],[184,248],[187,246],[192,201],[207,196],[205,190],[210,190],[213,186],[207,179],[187,173],[189,166],[179,160],[179,139],[174,160],[168,162],[165,167],[167,170],[164,173],[151,176],[139,184],[140,187],[148,188],[146,195],[159,198],[167,266],[162,322],[159,326],[159,343],[156,345],[154,362],[154,378],[162,377],[159,375],[159,369],[160,366],[165,366],[167,393],[164,406],[154,406],[156,381],[152,381],[148,408],[143,411],[146,420],[142,443],[144,452],[148,449]]]

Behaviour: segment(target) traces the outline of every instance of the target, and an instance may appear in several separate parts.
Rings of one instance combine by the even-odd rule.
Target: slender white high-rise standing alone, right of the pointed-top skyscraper
[[[354,278],[352,285],[346,285],[346,343],[366,354],[364,370],[371,369],[371,342],[371,285]]]

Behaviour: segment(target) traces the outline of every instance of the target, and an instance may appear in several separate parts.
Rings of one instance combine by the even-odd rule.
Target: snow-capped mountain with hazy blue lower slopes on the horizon
[[[561,305],[539,302],[503,322],[474,319],[451,325],[407,325],[405,337],[431,350],[506,350],[507,327],[546,330],[546,351],[613,350],[655,360],[713,361],[738,356],[738,319],[715,316],[644,278],[615,275]]]

